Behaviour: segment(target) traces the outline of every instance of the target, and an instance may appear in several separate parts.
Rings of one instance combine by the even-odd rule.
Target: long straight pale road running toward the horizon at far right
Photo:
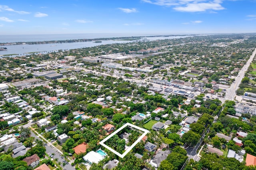
[[[236,97],[236,90],[238,89],[238,87],[244,77],[244,73],[247,71],[248,67],[250,66],[250,63],[252,62],[255,54],[256,54],[256,48],[255,48],[254,52],[252,53],[250,59],[248,59],[247,63],[244,65],[244,67],[238,73],[235,83],[232,83],[230,85],[230,88],[227,89],[226,96],[225,96],[226,100],[234,100],[234,98]]]

